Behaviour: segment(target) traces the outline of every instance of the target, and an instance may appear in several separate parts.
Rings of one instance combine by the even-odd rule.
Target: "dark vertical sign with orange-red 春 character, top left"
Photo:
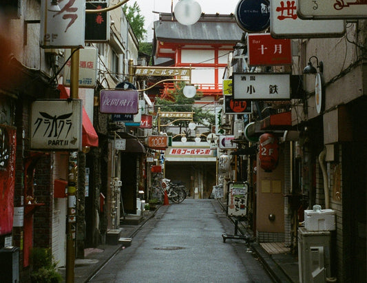
[[[87,10],[107,8],[107,2],[87,2]],[[85,41],[105,42],[109,40],[109,17],[107,12],[85,14]]]

